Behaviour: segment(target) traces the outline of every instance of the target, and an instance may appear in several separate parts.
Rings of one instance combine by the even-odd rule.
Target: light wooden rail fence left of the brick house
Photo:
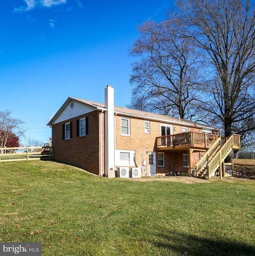
[[[52,147],[9,147],[0,148],[0,162],[51,159]]]

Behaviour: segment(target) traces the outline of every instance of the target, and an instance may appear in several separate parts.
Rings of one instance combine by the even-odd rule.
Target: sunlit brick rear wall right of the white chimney
[[[123,116],[124,117],[124,116]],[[188,151],[183,152],[166,152],[165,153],[165,167],[158,167],[157,161],[157,147],[155,145],[155,138],[161,136],[161,122],[150,121],[150,133],[144,133],[144,121],[146,119],[130,118],[130,136],[121,135],[121,116],[116,116],[116,149],[135,150],[135,162],[141,165],[143,175],[149,173],[149,154],[148,152],[156,152],[155,167],[157,174],[165,174],[169,171],[185,171],[182,165],[182,154],[188,154]],[[174,131],[176,127],[176,131]],[[182,133],[183,125],[173,125],[173,133]],[[188,127],[188,131],[202,132],[202,129],[196,127]],[[163,151],[162,151],[163,152]],[[142,160],[147,161],[146,166],[142,166]],[[199,153],[192,153],[191,167],[200,159]]]

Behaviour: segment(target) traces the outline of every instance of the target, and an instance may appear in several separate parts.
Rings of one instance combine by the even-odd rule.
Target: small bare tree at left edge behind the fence
[[[11,134],[15,134],[20,137],[26,131],[23,128],[24,122],[20,119],[12,118],[11,111],[5,110],[0,111],[0,147],[4,148],[6,146],[6,142],[8,141],[8,137]]]

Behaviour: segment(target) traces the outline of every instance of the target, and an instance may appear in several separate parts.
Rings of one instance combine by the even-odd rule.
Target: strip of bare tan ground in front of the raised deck
[[[142,181],[142,182],[147,182],[147,181],[167,181],[167,182],[182,182],[182,183],[187,183],[187,184],[192,184],[192,183],[210,183],[210,181],[206,179],[197,179],[194,177],[172,177],[172,176],[165,176],[165,177],[143,177],[139,179],[132,179],[133,181]]]

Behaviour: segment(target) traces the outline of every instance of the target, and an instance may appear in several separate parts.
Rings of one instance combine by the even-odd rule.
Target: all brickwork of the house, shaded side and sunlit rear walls
[[[102,157],[100,156],[100,115],[102,130]],[[76,120],[89,117],[88,134],[84,137],[76,137]],[[169,171],[180,172],[186,170],[182,166],[183,152],[165,152],[165,167],[158,167],[157,148],[155,138],[161,136],[161,122],[149,121],[146,119],[130,118],[130,136],[121,135],[121,116],[116,115],[116,149],[135,150],[135,162],[140,165],[143,175],[149,173],[149,152],[156,152],[155,167],[157,174],[165,174]],[[144,133],[144,121],[150,122],[150,133]],[[62,139],[62,125],[69,121],[73,122],[73,138],[69,140]],[[176,127],[176,131],[174,128]],[[104,113],[93,111],[85,115],[80,115],[73,119],[57,123],[52,126],[53,129],[53,150],[54,159],[70,165],[81,167],[87,171],[100,175],[100,165],[102,164],[101,175],[104,174]],[[188,131],[202,132],[202,129],[188,127]],[[173,125],[173,133],[181,133],[182,125]],[[200,159],[200,153],[192,153],[190,166],[194,165]],[[101,159],[101,160],[100,160]],[[147,165],[142,166],[142,161],[146,160]]]

